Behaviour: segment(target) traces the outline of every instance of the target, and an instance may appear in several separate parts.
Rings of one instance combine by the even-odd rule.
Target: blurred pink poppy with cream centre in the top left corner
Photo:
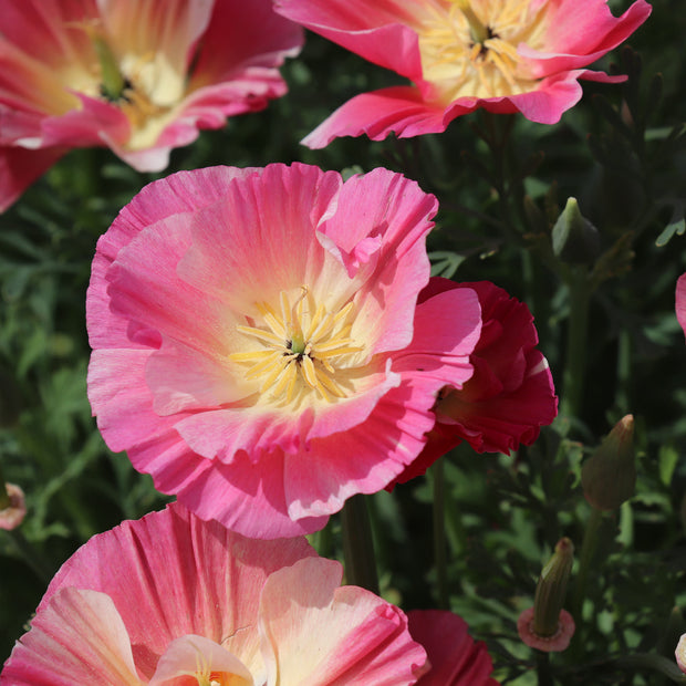
[[[285,93],[302,29],[271,0],[3,0],[0,210],[72,147],[142,172]]]

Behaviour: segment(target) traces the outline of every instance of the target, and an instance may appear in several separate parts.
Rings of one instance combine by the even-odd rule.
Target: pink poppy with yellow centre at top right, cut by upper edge
[[[440,133],[479,107],[554,124],[581,98],[579,79],[625,79],[583,67],[651,6],[636,0],[620,18],[606,0],[277,0],[277,11],[414,84],[353,97],[303,141],[319,148]]]

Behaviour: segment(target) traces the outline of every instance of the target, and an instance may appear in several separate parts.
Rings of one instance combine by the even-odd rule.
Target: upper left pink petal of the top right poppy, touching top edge
[[[365,60],[417,81],[422,59],[412,25],[426,14],[424,4],[422,0],[277,0],[276,10]]]

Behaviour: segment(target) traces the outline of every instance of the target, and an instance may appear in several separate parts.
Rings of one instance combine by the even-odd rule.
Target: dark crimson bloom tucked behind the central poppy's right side
[[[422,455],[397,482],[419,476],[462,440],[477,453],[530,446],[540,427],[558,415],[558,398],[529,308],[488,281],[454,283],[432,279],[419,302],[436,293],[469,289],[479,297],[481,335],[469,361],[474,375],[462,388],[445,388],[436,403],[436,425]]]

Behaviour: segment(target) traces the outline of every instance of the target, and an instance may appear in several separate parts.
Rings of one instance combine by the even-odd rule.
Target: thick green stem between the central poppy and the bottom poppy
[[[346,583],[378,595],[378,574],[374,555],[372,524],[365,497],[362,493],[345,501],[341,510],[343,559]]]

